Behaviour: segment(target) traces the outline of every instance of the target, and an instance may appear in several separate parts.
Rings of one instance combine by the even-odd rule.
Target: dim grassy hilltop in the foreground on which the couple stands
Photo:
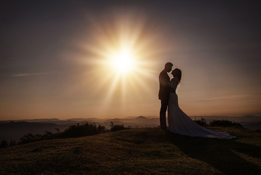
[[[0,174],[259,174],[261,133],[208,127],[236,139],[127,129],[0,149]]]

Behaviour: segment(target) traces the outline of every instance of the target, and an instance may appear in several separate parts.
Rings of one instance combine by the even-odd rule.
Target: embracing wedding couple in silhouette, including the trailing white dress
[[[232,139],[235,136],[229,135],[227,132],[218,132],[201,127],[186,115],[178,104],[178,96],[176,93],[177,86],[181,83],[182,72],[176,68],[172,71],[173,64],[167,62],[165,68],[160,72],[159,82],[159,99],[161,100],[160,108],[160,127],[170,132],[208,138]],[[171,72],[172,71],[172,72]],[[171,72],[173,78],[170,80],[168,73]],[[168,111],[168,127],[166,125],[166,112]]]

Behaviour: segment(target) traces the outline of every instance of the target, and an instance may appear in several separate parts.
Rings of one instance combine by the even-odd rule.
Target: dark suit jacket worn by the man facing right
[[[164,100],[169,98],[169,93],[171,88],[168,86],[168,82],[170,82],[170,77],[167,72],[164,70],[160,72],[159,76],[160,81],[160,90],[159,90],[159,99]]]

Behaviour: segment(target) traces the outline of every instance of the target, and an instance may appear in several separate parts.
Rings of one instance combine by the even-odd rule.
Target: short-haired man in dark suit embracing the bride
[[[170,82],[170,77],[167,72],[170,72],[173,64],[168,62],[165,64],[165,68],[160,72],[159,81],[160,81],[160,90],[159,90],[159,99],[161,100],[160,108],[160,128],[167,129],[166,126],[166,111],[169,102],[169,93],[171,88],[168,86]]]

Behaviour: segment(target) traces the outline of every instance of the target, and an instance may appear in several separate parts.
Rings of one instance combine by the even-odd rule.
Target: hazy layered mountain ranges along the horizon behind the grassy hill
[[[243,115],[243,116],[190,116],[191,119],[205,118],[207,123],[218,120],[227,119],[233,122],[240,122],[246,128],[249,129],[261,129],[261,116],[257,115]],[[51,119],[25,119],[25,120],[4,120],[0,121],[0,141],[2,140],[16,140],[27,134],[44,134],[45,131],[55,132],[55,128],[63,131],[70,125],[76,123],[95,123],[96,125],[102,125],[106,128],[110,128],[110,122],[119,125],[131,126],[131,127],[157,127],[160,125],[158,116],[139,116],[139,117],[126,117],[126,118],[70,118],[66,120],[60,120],[58,118]]]

